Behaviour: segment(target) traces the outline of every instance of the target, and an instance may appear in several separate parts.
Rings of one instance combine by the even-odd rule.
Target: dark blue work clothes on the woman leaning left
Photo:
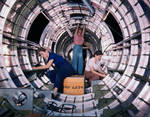
[[[74,70],[72,65],[58,54],[50,52],[48,61],[51,59],[54,59],[55,69],[48,70],[47,76],[54,83],[54,88],[57,87],[58,92],[63,92],[63,81],[66,77],[73,75]]]

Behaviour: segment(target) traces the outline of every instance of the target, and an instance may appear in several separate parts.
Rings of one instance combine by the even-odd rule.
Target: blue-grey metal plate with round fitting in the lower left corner
[[[8,100],[16,110],[33,108],[33,89],[0,88],[0,96]]]

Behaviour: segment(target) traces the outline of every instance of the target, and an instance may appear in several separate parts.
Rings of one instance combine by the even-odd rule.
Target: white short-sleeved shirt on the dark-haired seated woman
[[[101,67],[101,62],[100,61],[97,61],[95,63],[95,58],[92,57],[91,59],[89,59],[86,63],[86,67],[85,67],[85,70],[86,71],[90,71],[90,68],[94,68],[94,70],[99,70]]]

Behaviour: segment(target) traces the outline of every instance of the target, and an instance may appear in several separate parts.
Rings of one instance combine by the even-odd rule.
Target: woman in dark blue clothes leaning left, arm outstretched
[[[54,83],[53,96],[57,95],[57,92],[63,92],[63,81],[66,77],[74,74],[72,65],[64,59],[62,56],[50,52],[45,49],[39,49],[40,55],[47,61],[46,65],[39,67],[32,67],[33,70],[48,69],[47,77],[50,78],[51,82]],[[54,70],[49,68],[55,65]]]

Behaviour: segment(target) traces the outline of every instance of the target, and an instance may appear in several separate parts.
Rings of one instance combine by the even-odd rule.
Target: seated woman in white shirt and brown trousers
[[[90,86],[92,80],[103,79],[107,75],[104,71],[102,71],[100,61],[102,55],[101,51],[96,51],[94,53],[94,57],[90,58],[86,63],[84,75]]]

